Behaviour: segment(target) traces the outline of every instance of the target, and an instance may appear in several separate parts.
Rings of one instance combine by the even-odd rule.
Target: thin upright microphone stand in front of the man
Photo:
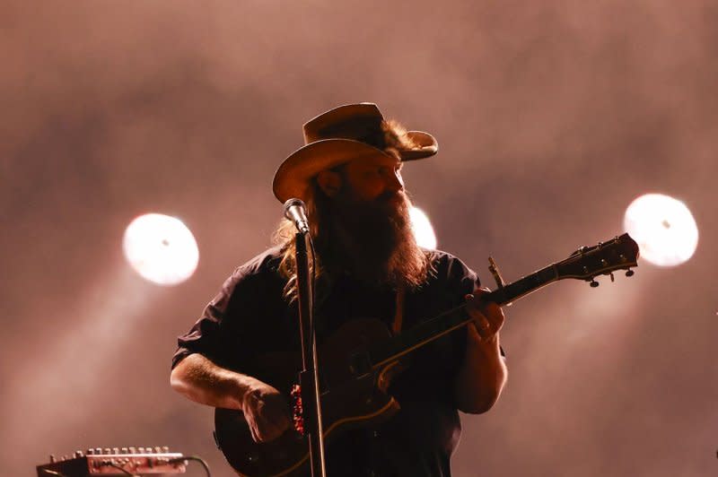
[[[312,477],[326,477],[324,465],[324,435],[321,425],[321,403],[317,343],[314,327],[313,282],[309,271],[307,230],[294,235],[297,266],[297,297],[299,299],[300,338],[302,340],[302,371],[299,385],[302,390],[304,432],[309,440],[309,458]]]

